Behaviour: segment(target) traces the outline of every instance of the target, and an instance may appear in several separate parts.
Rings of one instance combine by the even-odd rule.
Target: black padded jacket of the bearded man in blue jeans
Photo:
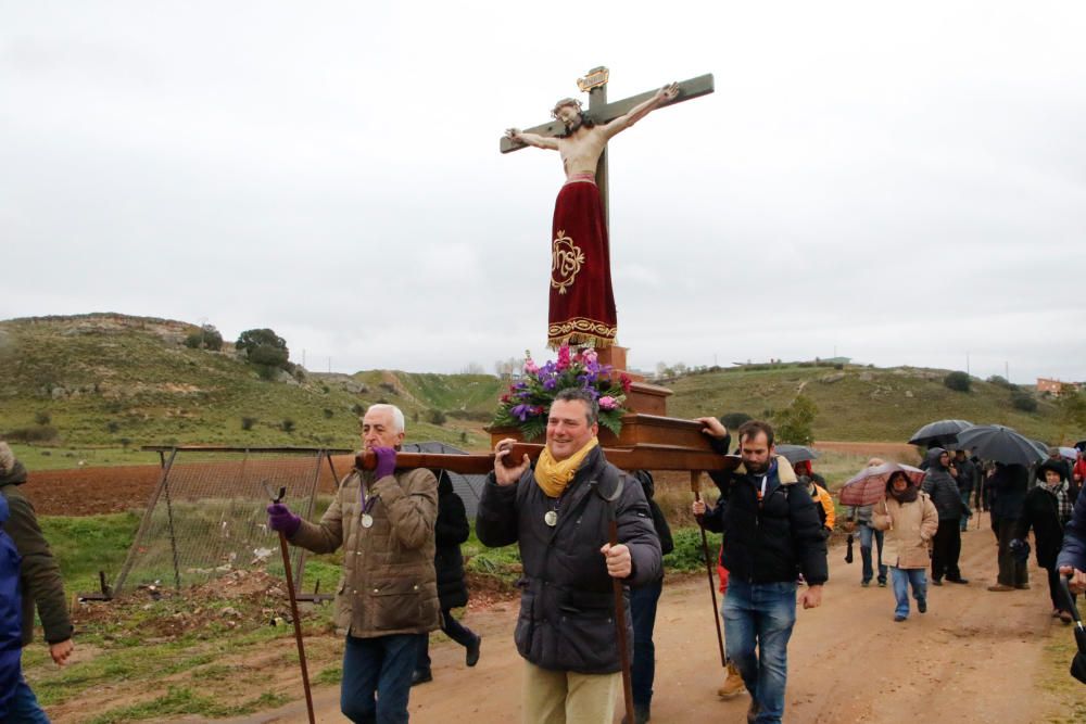
[[[720,452],[719,444],[714,447]],[[760,475],[743,466],[709,473],[720,488],[720,503],[727,504],[707,511],[705,521],[708,530],[719,524],[724,534],[724,568],[750,583],[795,581],[800,573],[810,585],[825,583],[825,538],[815,501],[785,458],[778,457],[768,475],[766,497],[759,501]]]

